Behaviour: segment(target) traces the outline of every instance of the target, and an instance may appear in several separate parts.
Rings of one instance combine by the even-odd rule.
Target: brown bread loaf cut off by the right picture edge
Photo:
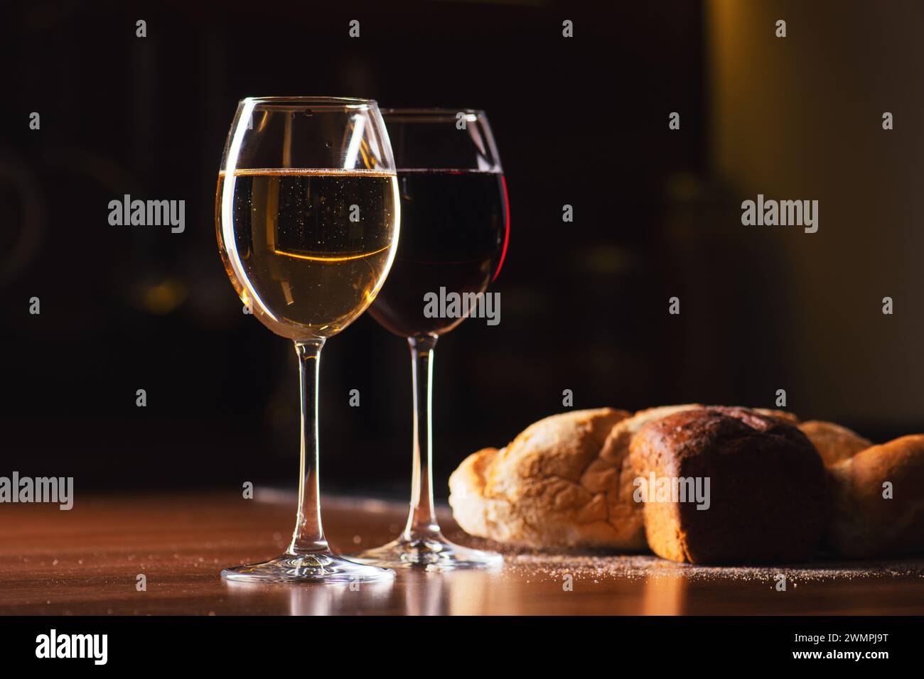
[[[827,541],[846,557],[924,552],[924,435],[874,445],[829,468]]]

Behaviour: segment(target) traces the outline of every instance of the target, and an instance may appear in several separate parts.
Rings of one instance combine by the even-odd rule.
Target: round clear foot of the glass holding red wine
[[[498,568],[504,564],[504,557],[500,554],[462,547],[439,533],[425,539],[398,538],[382,547],[350,554],[349,558],[360,564],[385,568],[424,568],[432,571]]]

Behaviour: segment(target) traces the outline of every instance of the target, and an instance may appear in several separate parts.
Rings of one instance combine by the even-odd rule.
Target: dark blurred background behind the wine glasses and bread
[[[237,100],[271,94],[491,119],[511,211],[492,287],[502,320],[466,321],[437,346],[439,494],[465,455],[565,409],[564,389],[576,408],[636,409],[773,406],[782,388],[804,418],[875,439],[920,430],[924,11],[607,5],[7,10],[0,474],[107,490],[295,484],[295,354],[241,313],[214,236]],[[819,233],[742,226],[740,202],[759,192],[821,200]],[[186,200],[185,233],[109,225],[125,193]],[[327,343],[326,490],[407,492],[409,368],[405,341],[368,315]]]

